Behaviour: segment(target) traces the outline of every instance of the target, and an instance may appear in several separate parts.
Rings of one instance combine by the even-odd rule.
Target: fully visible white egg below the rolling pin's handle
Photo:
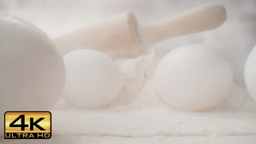
[[[213,49],[187,45],[164,56],[154,79],[167,104],[202,111],[218,105],[229,94],[233,72],[230,63]]]

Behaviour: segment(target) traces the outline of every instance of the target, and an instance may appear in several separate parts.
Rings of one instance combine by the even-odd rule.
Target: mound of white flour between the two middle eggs
[[[157,64],[154,52],[135,59],[118,59],[116,63],[123,73],[124,85],[119,97],[110,105],[111,108],[124,111],[165,106],[157,95],[152,79]]]

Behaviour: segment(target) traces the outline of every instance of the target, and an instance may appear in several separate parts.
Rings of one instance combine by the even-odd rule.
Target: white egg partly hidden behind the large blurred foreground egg
[[[66,86],[62,98],[76,108],[99,108],[111,103],[123,85],[121,71],[102,52],[78,49],[64,57]]]

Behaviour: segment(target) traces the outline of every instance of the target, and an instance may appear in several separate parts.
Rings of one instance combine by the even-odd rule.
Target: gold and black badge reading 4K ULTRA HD
[[[7,111],[4,120],[5,139],[49,139],[52,136],[49,111]]]

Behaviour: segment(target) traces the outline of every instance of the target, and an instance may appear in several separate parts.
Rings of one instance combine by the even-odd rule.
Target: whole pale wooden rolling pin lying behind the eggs
[[[138,24],[132,13],[122,13],[60,36],[54,42],[62,56],[75,49],[95,49],[112,59],[131,58],[161,40],[214,29],[225,20],[225,8],[215,3],[155,23]]]

